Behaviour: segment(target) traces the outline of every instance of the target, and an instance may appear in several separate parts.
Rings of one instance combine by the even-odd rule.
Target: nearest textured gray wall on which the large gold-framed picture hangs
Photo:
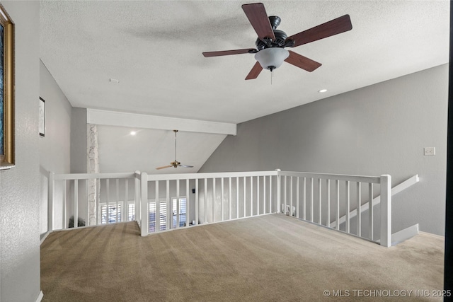
[[[1,1],[16,24],[16,167],[0,172],[0,300],[40,294],[40,3]]]

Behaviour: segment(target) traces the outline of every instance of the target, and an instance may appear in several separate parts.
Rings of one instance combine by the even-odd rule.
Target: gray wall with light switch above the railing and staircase
[[[394,196],[393,231],[420,223],[443,235],[447,97],[442,65],[244,122],[200,172],[390,174],[392,186],[418,174],[420,182]],[[423,155],[427,146],[435,156]]]

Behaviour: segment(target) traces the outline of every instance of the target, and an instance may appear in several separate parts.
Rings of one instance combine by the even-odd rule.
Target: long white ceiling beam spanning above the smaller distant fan
[[[88,124],[236,135],[236,124],[86,109]]]

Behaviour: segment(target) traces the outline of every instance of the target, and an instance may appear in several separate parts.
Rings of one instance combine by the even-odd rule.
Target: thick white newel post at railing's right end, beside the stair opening
[[[372,206],[371,206],[372,207]],[[391,176],[381,175],[381,245],[391,246]]]

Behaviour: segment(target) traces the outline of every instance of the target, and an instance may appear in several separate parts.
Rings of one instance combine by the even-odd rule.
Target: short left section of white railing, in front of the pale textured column
[[[50,173],[48,230],[69,228],[70,218],[74,228],[79,227],[79,218],[84,220],[84,226],[125,221],[130,216],[135,220],[135,211],[140,207],[139,185],[139,172]]]

